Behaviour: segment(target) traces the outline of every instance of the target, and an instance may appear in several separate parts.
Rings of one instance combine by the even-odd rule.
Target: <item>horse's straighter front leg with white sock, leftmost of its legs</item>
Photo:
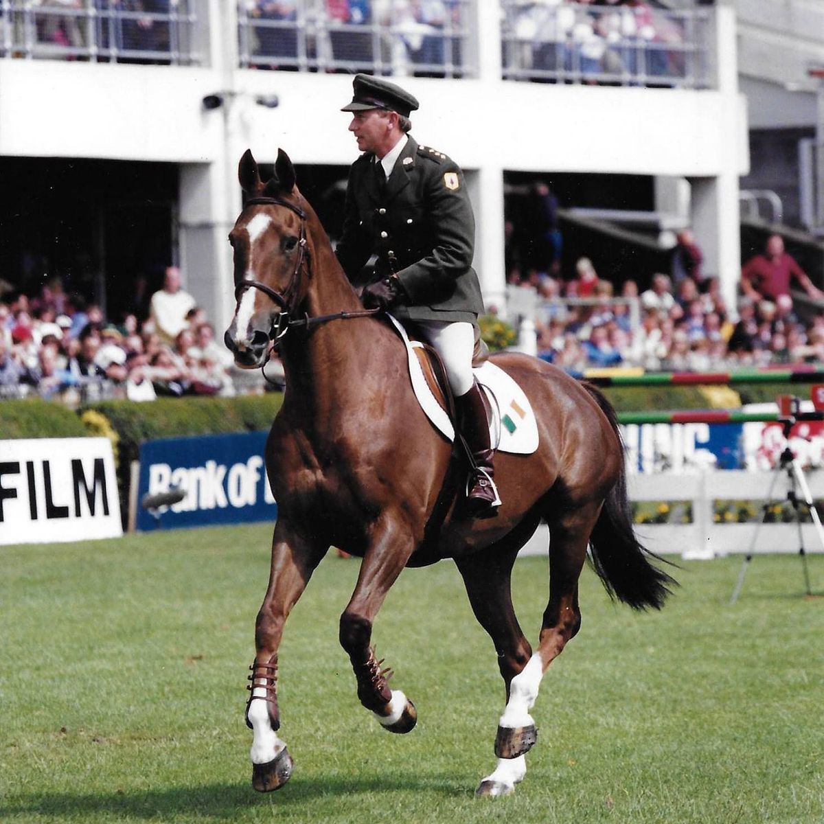
[[[251,695],[246,704],[246,725],[253,731],[252,786],[262,793],[279,789],[292,775],[292,758],[278,736],[278,648],[283,624],[325,551],[303,538],[286,518],[278,519],[269,587],[255,625],[256,654],[249,667]]]

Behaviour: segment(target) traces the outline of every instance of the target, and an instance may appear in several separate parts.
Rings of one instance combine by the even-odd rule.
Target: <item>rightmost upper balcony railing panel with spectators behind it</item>
[[[500,0],[503,77],[553,83],[713,85],[707,8]]]

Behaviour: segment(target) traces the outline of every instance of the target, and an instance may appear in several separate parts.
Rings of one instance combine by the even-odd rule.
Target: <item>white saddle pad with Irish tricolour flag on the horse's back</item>
[[[415,348],[420,348],[421,344],[417,341],[410,341],[406,330],[394,317],[390,315],[389,319],[395,325],[406,346],[412,388],[421,409],[424,410],[438,432],[442,433],[447,440],[454,441],[455,428],[452,426],[452,421],[435,400],[424,377],[424,370],[420,366],[418,356],[413,351]],[[500,452],[531,455],[538,448],[538,424],[532,406],[522,388],[503,369],[495,366],[491,361],[487,361],[473,371],[475,378],[486,392],[492,408],[489,440],[494,448]]]

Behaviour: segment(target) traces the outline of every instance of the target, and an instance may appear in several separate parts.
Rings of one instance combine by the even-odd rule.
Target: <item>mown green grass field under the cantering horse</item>
[[[337,643],[357,562],[330,555],[281,649],[295,773],[250,788],[243,723],[268,527],[0,548],[2,822],[824,822],[824,599],[797,558],[685,564],[661,613],[582,578],[583,628],[544,679],[517,793],[475,800],[503,688],[451,563],[407,570],[379,657],[414,700],[378,727]],[[812,556],[817,592],[824,558]],[[545,559],[516,566],[535,640]]]

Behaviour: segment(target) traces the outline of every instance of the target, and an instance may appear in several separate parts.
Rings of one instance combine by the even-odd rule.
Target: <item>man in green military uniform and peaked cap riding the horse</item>
[[[474,517],[500,504],[482,390],[472,374],[477,317],[484,311],[472,268],[475,218],[463,172],[410,137],[418,101],[380,77],[358,74],[349,131],[363,154],[349,170],[343,235],[336,254],[353,283],[372,255],[366,307],[391,309],[441,356],[473,467],[467,493]]]

